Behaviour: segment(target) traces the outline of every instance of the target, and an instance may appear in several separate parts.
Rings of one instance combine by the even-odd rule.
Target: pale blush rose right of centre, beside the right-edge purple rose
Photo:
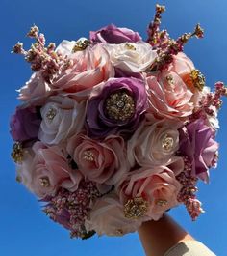
[[[182,123],[157,120],[147,114],[128,141],[127,154],[131,167],[165,165],[179,148],[178,128]]]

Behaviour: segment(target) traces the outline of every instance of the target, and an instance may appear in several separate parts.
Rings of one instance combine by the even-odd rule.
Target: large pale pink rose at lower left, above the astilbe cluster
[[[63,150],[57,146],[47,147],[41,142],[26,151],[25,160],[18,167],[18,176],[40,198],[55,195],[59,187],[75,191],[82,177],[69,167]]]

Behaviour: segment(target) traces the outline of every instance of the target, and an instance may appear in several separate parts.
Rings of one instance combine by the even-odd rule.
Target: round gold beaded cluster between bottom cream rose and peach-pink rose
[[[148,202],[140,197],[129,199],[124,205],[124,215],[127,218],[138,219],[147,213]]]

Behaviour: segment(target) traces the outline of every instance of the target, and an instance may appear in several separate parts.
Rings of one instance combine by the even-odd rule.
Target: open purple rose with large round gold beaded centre
[[[101,93],[91,97],[87,128],[93,138],[108,134],[132,133],[148,107],[145,84],[137,78],[111,78]]]

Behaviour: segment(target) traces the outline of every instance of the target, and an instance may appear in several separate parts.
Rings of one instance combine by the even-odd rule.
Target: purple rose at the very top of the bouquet
[[[90,31],[89,38],[93,43],[136,43],[141,40],[138,32],[128,28],[117,28],[114,24],[98,31]]]

